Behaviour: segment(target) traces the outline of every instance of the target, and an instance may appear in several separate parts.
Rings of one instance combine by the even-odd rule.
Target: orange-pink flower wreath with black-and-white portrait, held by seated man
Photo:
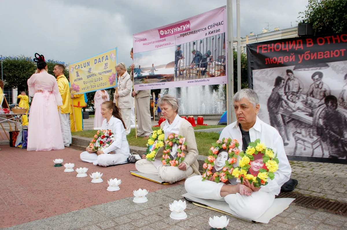
[[[202,181],[210,180],[211,177],[217,183],[227,182],[228,179],[231,179],[234,170],[232,165],[237,162],[238,155],[243,153],[239,150],[239,146],[238,141],[231,138],[223,138],[212,143],[209,156],[202,166],[204,169]],[[223,162],[223,159],[225,159],[225,162]]]

